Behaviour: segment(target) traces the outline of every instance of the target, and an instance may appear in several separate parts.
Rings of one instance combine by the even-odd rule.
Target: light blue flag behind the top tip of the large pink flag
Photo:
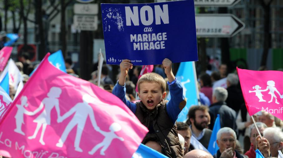
[[[54,65],[56,68],[58,68],[59,70],[67,73],[66,71],[66,66],[65,66],[65,60],[64,60],[64,57],[63,57],[63,54],[62,54],[62,51],[61,50],[58,50],[56,51],[55,53],[51,54],[49,57],[48,57],[48,61]],[[36,68],[37,69],[37,68]],[[36,71],[36,69],[34,69],[30,76]]]

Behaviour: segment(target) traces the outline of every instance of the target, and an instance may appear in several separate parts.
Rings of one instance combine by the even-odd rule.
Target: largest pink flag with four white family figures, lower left
[[[132,157],[147,128],[116,96],[60,71],[49,55],[0,122],[0,155]]]

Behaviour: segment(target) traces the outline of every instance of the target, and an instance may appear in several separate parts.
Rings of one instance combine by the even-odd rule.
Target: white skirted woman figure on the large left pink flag
[[[34,131],[34,134],[32,136],[28,137],[29,139],[36,138],[38,130],[42,126],[39,142],[42,145],[45,145],[45,143],[43,141],[43,136],[44,136],[46,126],[50,125],[50,120],[51,120],[50,112],[54,107],[57,111],[58,118],[60,117],[60,108],[59,108],[59,99],[58,98],[60,97],[61,93],[62,93],[62,90],[59,87],[51,87],[50,88],[50,91],[47,94],[48,97],[44,98],[41,101],[40,106],[34,111],[34,113],[36,114],[37,112],[41,111],[42,108],[44,108],[44,110],[41,112],[41,114],[39,116],[37,116],[36,119],[33,120],[33,122],[37,123],[37,125],[36,125],[36,129]]]

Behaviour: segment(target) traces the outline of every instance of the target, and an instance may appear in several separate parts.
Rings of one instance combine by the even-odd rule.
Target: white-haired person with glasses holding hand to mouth
[[[237,136],[233,129],[223,127],[217,132],[217,145],[219,150],[213,156],[214,158],[243,158],[243,156],[235,150]]]

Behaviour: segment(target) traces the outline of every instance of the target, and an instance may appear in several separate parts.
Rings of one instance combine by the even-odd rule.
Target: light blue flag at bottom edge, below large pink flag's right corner
[[[139,146],[137,151],[133,154],[132,158],[168,158],[167,156],[151,149],[143,144]]]

